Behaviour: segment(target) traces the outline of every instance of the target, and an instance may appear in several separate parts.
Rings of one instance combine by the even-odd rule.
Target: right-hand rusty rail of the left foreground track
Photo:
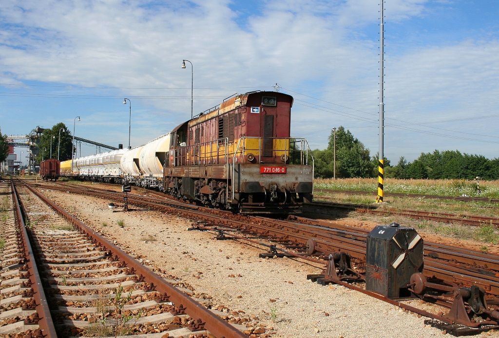
[[[48,200],[38,191],[31,188],[27,184],[26,187],[32,193],[38,196],[41,200],[47,203],[57,213],[59,213],[61,216],[70,221],[72,224],[80,228],[82,232],[86,233],[87,235],[95,239],[100,245],[106,248],[106,250],[109,250],[111,254],[116,256],[118,260],[124,262],[129,267],[134,268],[137,275],[142,275],[147,283],[154,284],[154,286],[157,288],[159,292],[167,294],[170,297],[170,300],[176,306],[184,308],[186,314],[188,314],[191,318],[193,318],[196,321],[201,321],[202,323],[204,323],[204,327],[206,328],[206,330],[210,331],[210,333],[212,333],[216,337],[226,337],[226,338],[247,337],[241,331],[237,330],[229,323],[225,322],[220,317],[210,312],[210,310],[204,308],[201,304],[194,301],[191,297],[183,294],[177,288],[175,288],[168,282],[164,281],[161,277],[156,275],[154,272],[149,270],[144,265],[140,264],[137,260],[135,260],[133,257],[122,251],[120,248],[109,242],[103,236],[94,232],[92,229],[83,224],[83,222],[81,222],[80,220],[78,220],[68,212],[64,211],[62,208],[57,206],[52,201]]]

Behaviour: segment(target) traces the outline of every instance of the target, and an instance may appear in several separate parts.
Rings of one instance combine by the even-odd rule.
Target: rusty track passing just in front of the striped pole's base
[[[419,210],[401,210],[393,208],[379,209],[376,206],[370,206],[370,205],[333,203],[333,202],[322,202],[322,201],[315,201],[312,203],[307,203],[306,205],[316,206],[316,207],[326,207],[326,208],[342,208],[366,214],[398,215],[417,220],[436,221],[442,223],[459,223],[472,226],[492,225],[495,228],[499,228],[499,217],[486,217],[478,215],[456,215],[456,214],[442,213],[442,212],[425,212]]]

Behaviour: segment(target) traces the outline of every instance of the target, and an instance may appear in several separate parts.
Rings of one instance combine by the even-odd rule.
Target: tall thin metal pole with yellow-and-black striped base
[[[385,104],[383,101],[384,96],[384,88],[383,88],[383,75],[384,75],[384,0],[381,0],[381,21],[379,28],[379,163],[378,163],[378,197],[376,198],[376,202],[383,202],[383,180],[384,180],[384,122],[385,122]]]

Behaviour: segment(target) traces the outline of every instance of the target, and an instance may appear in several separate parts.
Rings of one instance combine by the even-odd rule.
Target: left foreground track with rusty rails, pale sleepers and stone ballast
[[[18,230],[9,224],[4,232],[1,306],[11,309],[2,311],[0,335],[247,337],[203,307],[206,300],[189,297],[40,194],[11,188]],[[13,239],[19,232],[26,250]]]

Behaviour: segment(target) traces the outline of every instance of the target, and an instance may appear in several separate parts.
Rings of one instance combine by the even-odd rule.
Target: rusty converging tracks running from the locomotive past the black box
[[[50,186],[51,189],[93,195],[107,200],[121,201],[123,193],[89,188],[70,188],[69,186]],[[298,216],[289,220],[275,220],[265,217],[233,215],[230,212],[182,204],[178,201],[129,194],[128,201],[134,205],[156,210],[173,212],[201,223],[196,228],[212,229],[223,233],[233,230],[242,235],[273,241],[289,253],[312,261],[327,263],[331,252],[345,251],[359,261],[365,261],[365,243],[368,231],[345,226],[340,222],[323,222]],[[310,240],[314,242],[310,242]],[[313,250],[310,249],[314,244]],[[499,260],[495,255],[484,254],[458,247],[427,243],[425,246],[425,266],[428,276],[438,276],[444,280],[462,285],[473,283],[483,285],[491,296],[499,296]],[[271,255],[272,257],[273,255]],[[428,263],[427,263],[428,261]],[[430,269],[432,267],[432,269]]]

